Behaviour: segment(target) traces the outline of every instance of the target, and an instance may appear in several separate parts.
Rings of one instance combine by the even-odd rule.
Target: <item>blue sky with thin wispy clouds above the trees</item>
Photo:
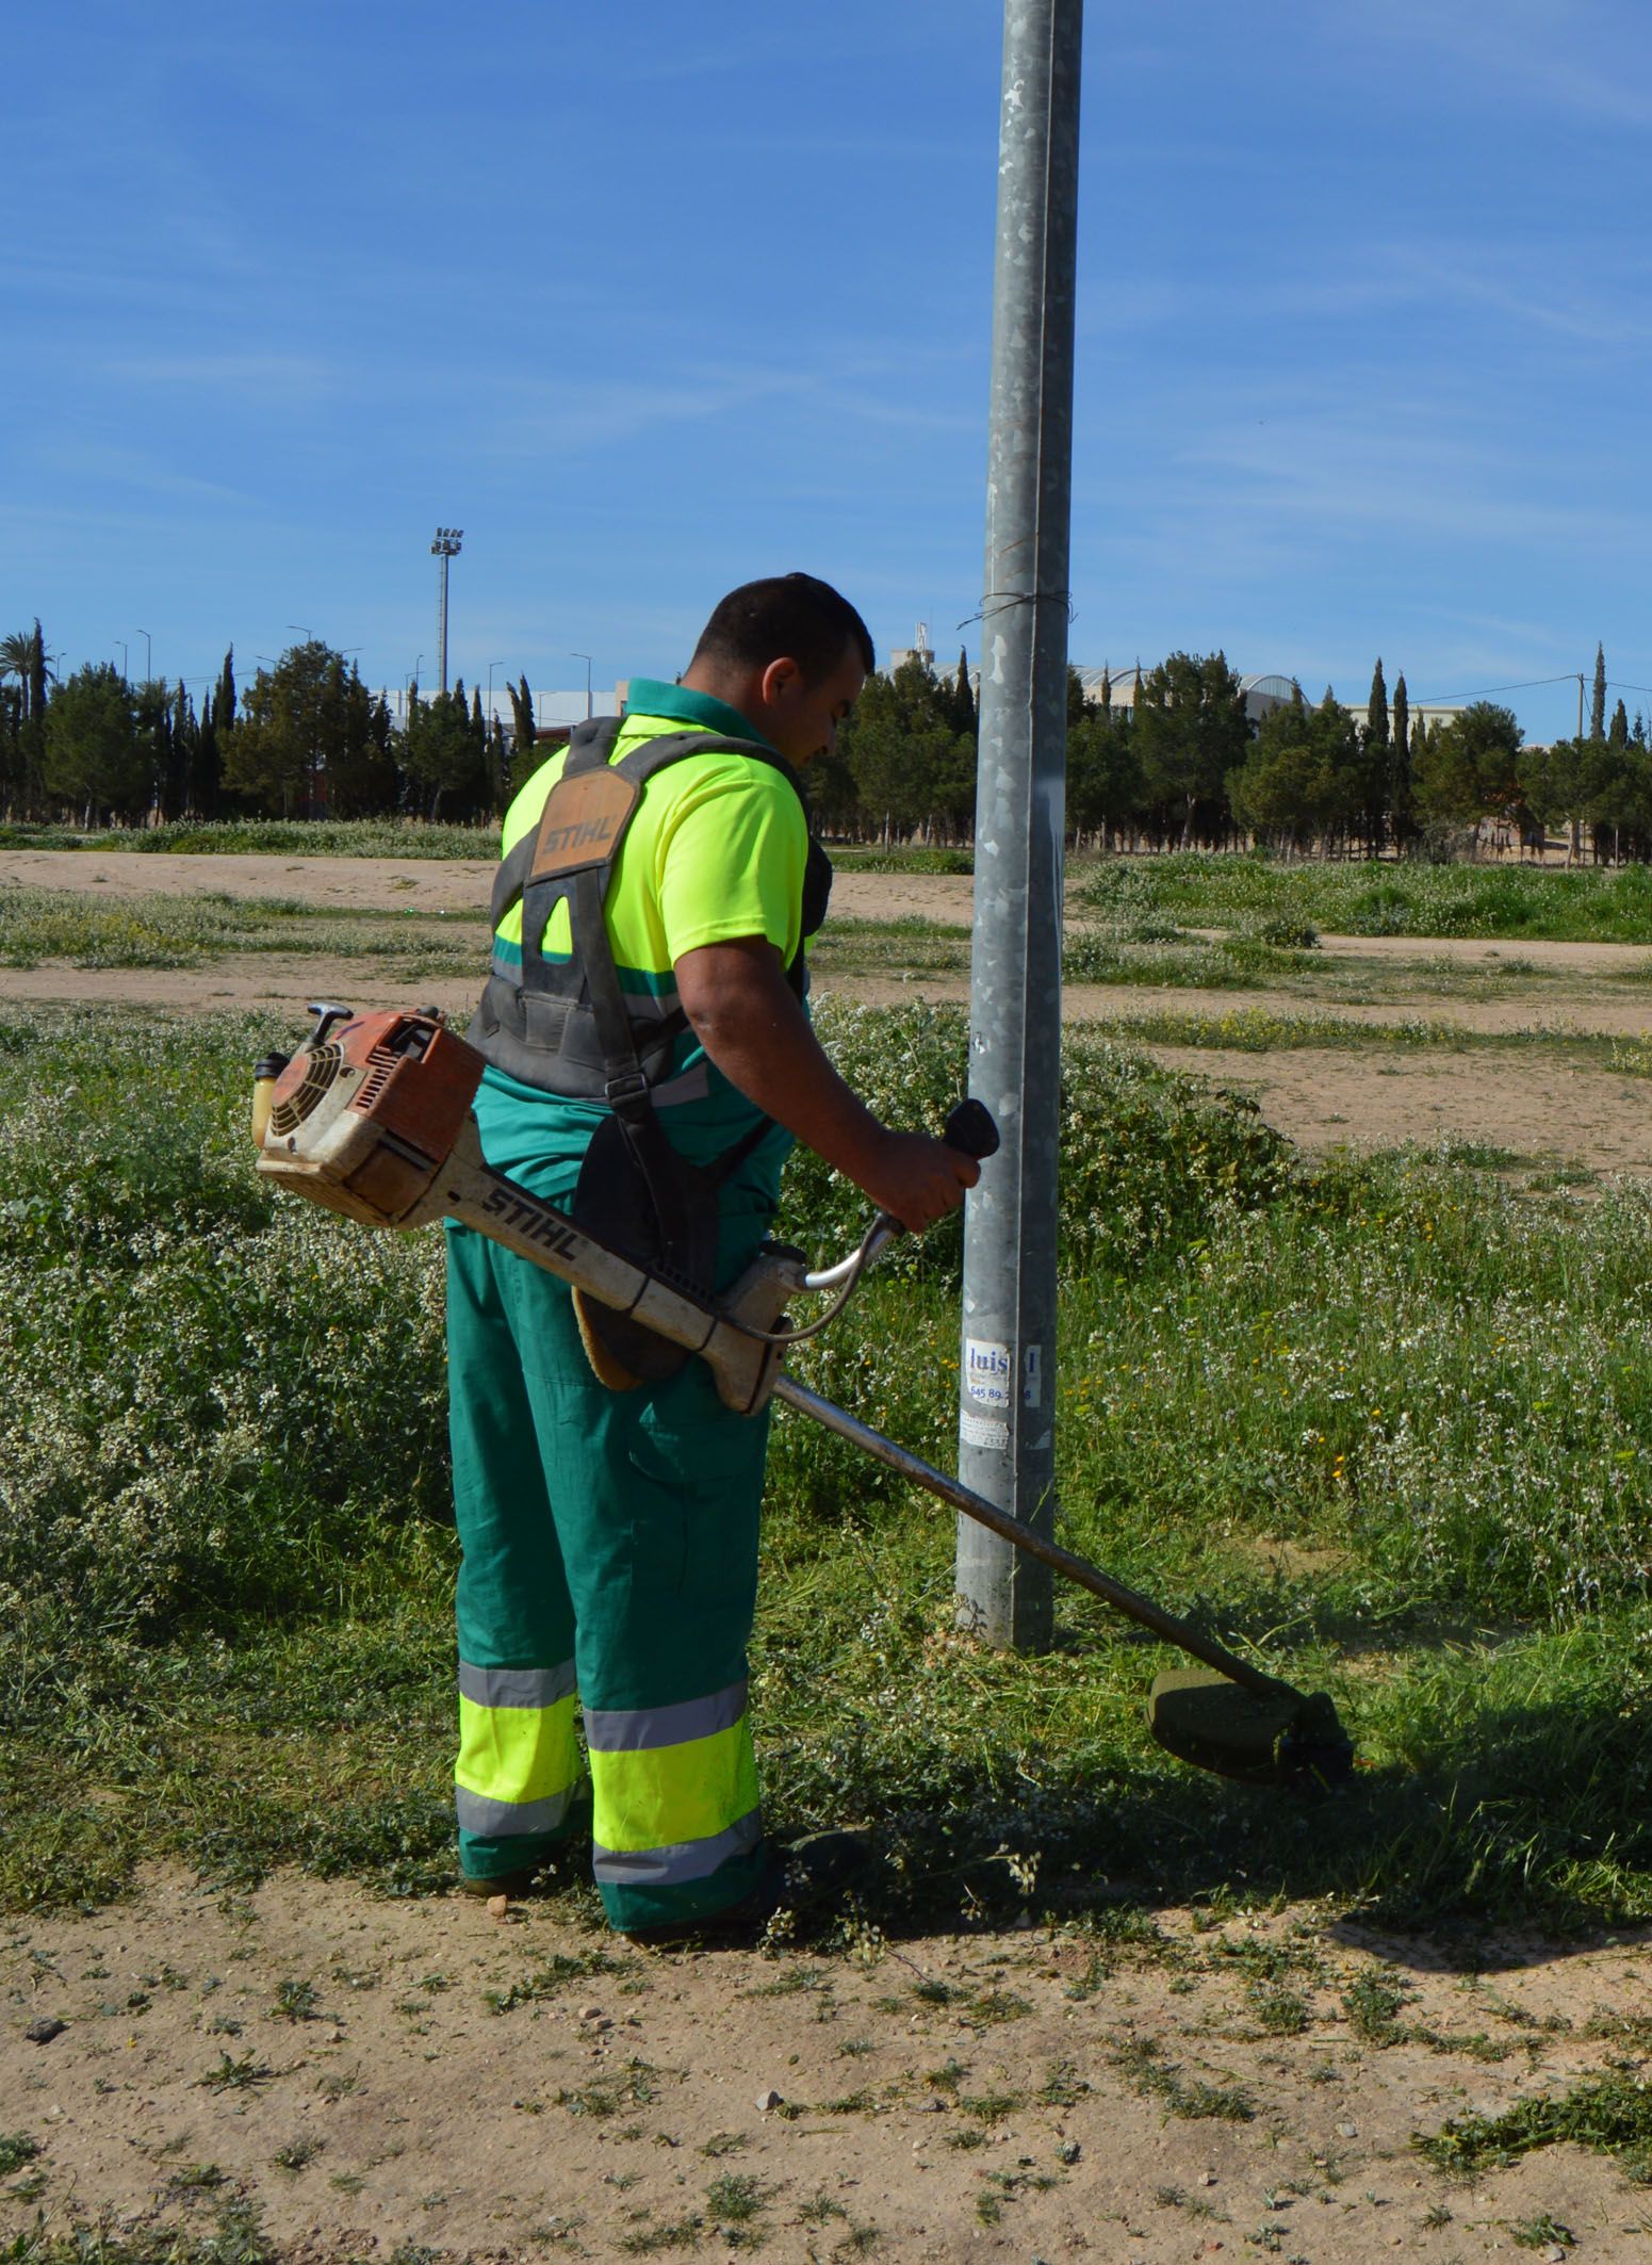
[[[1000,27],[20,11],[0,627],[428,686],[441,521],[468,682],[672,675],[788,566],[973,655]],[[1650,143],[1632,0],[1091,0],[1073,659],[1652,684]]]

